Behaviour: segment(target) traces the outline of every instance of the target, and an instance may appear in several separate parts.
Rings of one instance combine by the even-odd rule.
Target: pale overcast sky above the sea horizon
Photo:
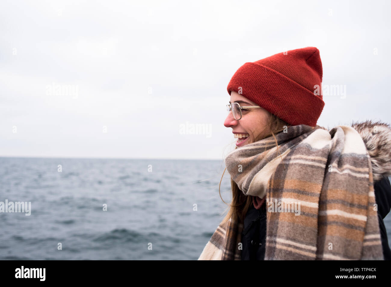
[[[0,156],[223,159],[235,71],[307,46],[317,124],[391,122],[389,1],[0,3]]]

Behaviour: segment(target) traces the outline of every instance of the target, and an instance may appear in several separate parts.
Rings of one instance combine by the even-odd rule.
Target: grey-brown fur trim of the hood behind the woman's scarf
[[[391,176],[391,128],[384,122],[352,122],[350,125],[360,135],[369,152],[373,181]]]

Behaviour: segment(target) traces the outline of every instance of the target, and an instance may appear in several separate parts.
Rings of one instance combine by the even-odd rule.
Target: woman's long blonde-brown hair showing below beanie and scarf
[[[269,120],[267,122],[267,127],[269,127],[269,132],[266,134],[260,134],[259,136],[257,136],[255,138],[255,142],[258,140],[262,140],[263,138],[266,138],[268,136],[273,135],[274,140],[276,141],[277,152],[278,152],[278,143],[277,143],[277,139],[276,139],[275,134],[280,133],[284,129],[284,126],[289,126],[289,124],[287,122],[284,122],[282,119],[278,118],[276,115],[271,114],[271,116],[269,116]],[[237,149],[236,146],[235,146],[235,149]],[[226,170],[226,168],[224,169],[224,172],[225,172],[225,170]],[[221,193],[220,193],[221,180],[222,180],[222,177],[224,176],[224,172],[221,176],[220,183],[219,183],[219,195],[220,195],[221,200],[225,204],[228,205],[229,210],[228,210],[227,215],[222,220],[222,223],[226,222],[231,217],[236,218],[236,220],[239,220],[240,222],[243,222],[244,217],[246,216],[246,213],[247,213],[249,207],[251,206],[251,204],[253,204],[252,197],[244,195],[244,193],[241,190],[239,190],[239,187],[236,184],[236,182],[233,181],[231,178],[232,201],[230,204],[226,203],[222,199]],[[226,211],[224,211],[223,214]]]

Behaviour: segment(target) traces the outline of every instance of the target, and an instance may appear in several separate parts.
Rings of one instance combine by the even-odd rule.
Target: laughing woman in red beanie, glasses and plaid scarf
[[[224,126],[232,202],[199,260],[391,259],[391,129],[316,125],[324,102],[315,47],[240,67]],[[319,92],[320,88],[320,92]]]

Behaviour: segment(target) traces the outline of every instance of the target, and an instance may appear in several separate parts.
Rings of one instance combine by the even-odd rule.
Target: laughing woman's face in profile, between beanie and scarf
[[[239,103],[240,106],[258,106],[246,97],[235,91],[231,91],[230,103],[234,102]],[[224,120],[224,126],[232,128],[232,133],[235,138],[238,138],[236,145],[237,147],[241,147],[255,142],[257,136],[261,134],[265,135],[270,131],[270,128],[267,127],[267,120],[270,116],[271,113],[264,108],[244,108],[242,109],[242,118],[240,120],[235,120],[232,112],[229,112],[227,118]]]

